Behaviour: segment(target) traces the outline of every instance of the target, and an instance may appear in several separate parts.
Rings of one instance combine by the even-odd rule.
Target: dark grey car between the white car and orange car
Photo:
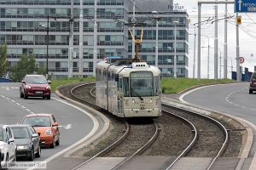
[[[33,161],[34,157],[41,156],[40,137],[32,126],[18,124],[9,127],[14,133],[17,157]]]

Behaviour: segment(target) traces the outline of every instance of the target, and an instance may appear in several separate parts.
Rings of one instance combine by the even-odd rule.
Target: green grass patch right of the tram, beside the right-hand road
[[[199,86],[203,84],[214,84],[224,82],[235,82],[230,79],[195,79],[195,78],[163,78],[162,79],[163,94],[177,94],[187,88]]]

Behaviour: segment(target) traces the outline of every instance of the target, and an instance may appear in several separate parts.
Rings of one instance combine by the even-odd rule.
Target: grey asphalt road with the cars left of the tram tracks
[[[0,83],[0,124],[21,123],[27,114],[51,113],[59,122],[61,144],[54,149],[42,149],[40,158],[34,161],[44,161],[50,156],[57,156],[61,150],[91,135],[96,131],[96,120],[91,119],[83,111],[67,105],[62,99],[52,94],[52,99],[30,98],[20,99],[20,83]],[[48,161],[51,161],[48,159]],[[54,163],[54,159],[51,163]]]

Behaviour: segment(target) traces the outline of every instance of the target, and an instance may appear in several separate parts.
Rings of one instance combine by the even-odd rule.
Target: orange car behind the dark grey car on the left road
[[[31,114],[24,117],[23,124],[30,124],[40,134],[41,146],[54,148],[60,145],[59,123],[53,114]]]

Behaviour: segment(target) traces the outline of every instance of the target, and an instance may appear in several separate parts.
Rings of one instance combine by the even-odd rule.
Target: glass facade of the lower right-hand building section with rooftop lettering
[[[133,16],[131,12],[129,14],[129,20],[131,21]],[[158,25],[158,67],[164,77],[174,76],[174,47],[176,42],[177,77],[188,77],[188,14],[183,11],[166,11],[159,12],[158,15],[160,16]],[[140,21],[147,23],[147,26],[144,27],[143,43],[140,45],[139,51],[143,60],[146,60],[149,65],[155,65],[156,22],[152,20],[152,17],[151,20],[148,20],[148,16],[153,17],[152,12],[136,13],[136,17]],[[140,37],[140,34],[141,30],[137,28],[135,35]],[[131,57],[131,35],[129,35],[128,52]]]

